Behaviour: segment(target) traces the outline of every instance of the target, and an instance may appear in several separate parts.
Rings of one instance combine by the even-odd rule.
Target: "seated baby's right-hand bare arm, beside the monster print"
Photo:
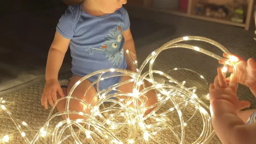
[[[124,53],[125,53],[126,62],[127,62],[127,69],[132,71],[132,72],[137,72],[136,68],[133,66],[131,60],[129,59],[129,57],[126,53],[126,50],[129,49],[134,54],[136,54],[135,45],[134,45],[134,41],[133,41],[133,38],[132,38],[132,33],[131,33],[130,28],[123,32],[123,36],[124,36],[124,39],[125,39]],[[133,60],[135,60],[135,57],[132,54],[131,54],[131,57],[132,57]]]

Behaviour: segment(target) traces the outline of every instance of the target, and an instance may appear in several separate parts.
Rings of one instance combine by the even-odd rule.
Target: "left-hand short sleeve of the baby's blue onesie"
[[[75,34],[75,12],[71,6],[65,11],[57,24],[56,30],[65,38],[72,39]]]

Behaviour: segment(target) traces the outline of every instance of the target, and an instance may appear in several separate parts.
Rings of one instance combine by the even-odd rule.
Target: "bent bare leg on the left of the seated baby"
[[[69,91],[71,90],[71,88],[74,86],[74,84],[80,80],[82,77],[80,76],[74,76],[71,78],[69,84],[68,84],[68,88],[66,88],[67,90],[67,94],[69,93]],[[82,99],[83,95],[84,95],[84,92],[86,90],[86,88],[91,84],[91,82],[89,80],[84,80],[82,81],[76,88],[75,90],[73,91],[73,94],[72,96],[73,97],[77,97],[79,99]],[[65,88],[62,88],[63,90],[65,90]],[[84,101],[86,102],[90,102],[91,99],[92,99],[92,96],[95,95],[96,93],[96,90],[94,87],[91,87],[85,97],[84,97]],[[65,94],[65,92],[64,92]],[[58,95],[58,98],[60,98],[60,95]],[[91,105],[93,106],[96,102],[98,101],[98,98],[95,98]],[[65,107],[66,106],[66,100],[62,100],[58,103],[57,105],[57,109],[59,112],[63,112],[65,111]],[[78,112],[84,112],[84,113],[89,113],[90,110],[88,109],[88,107],[86,105],[84,105],[82,102],[80,101],[77,101],[77,100],[74,100],[74,99],[70,99],[69,101],[69,108],[68,110],[72,110],[72,111],[78,111]],[[65,115],[62,115],[63,119],[66,119],[66,116]],[[70,120],[74,120],[74,119],[79,119],[79,118],[85,118],[81,115],[69,115],[69,119]]]

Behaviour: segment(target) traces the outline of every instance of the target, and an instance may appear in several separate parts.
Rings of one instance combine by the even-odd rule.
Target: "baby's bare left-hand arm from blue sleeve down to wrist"
[[[56,31],[54,40],[48,53],[45,71],[46,81],[52,79],[58,80],[58,73],[60,71],[65,53],[68,50],[69,42],[70,39],[64,38],[59,32]]]

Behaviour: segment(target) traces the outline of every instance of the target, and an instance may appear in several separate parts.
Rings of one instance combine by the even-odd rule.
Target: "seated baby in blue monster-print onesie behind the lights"
[[[48,102],[52,106],[58,98],[68,94],[78,80],[91,72],[110,68],[137,72],[125,53],[129,49],[135,54],[129,16],[122,7],[125,3],[126,0],[85,0],[82,3],[69,6],[65,14],[61,16],[47,58],[46,84],[41,98],[42,106],[45,109],[48,109]],[[70,81],[61,80],[59,82],[58,72],[68,46],[71,50],[73,77]],[[105,73],[102,77],[107,74],[113,73]],[[81,82],[72,96],[82,99],[85,89],[97,78],[98,75]],[[128,76],[105,79],[100,81],[100,90],[130,79],[131,77]],[[150,86],[148,81],[145,83],[147,87]],[[132,93],[133,83],[127,83],[118,89],[125,93]],[[96,85],[91,87],[84,97],[84,100],[88,103],[91,102],[92,106],[98,100],[98,98],[92,100],[95,93]],[[116,91],[111,91],[111,93],[116,93]],[[157,102],[155,90],[149,91],[146,96],[148,97],[146,107]],[[119,98],[124,99],[126,96]],[[60,101],[57,105],[58,111],[65,111],[65,105],[66,101]],[[69,110],[90,112],[84,104],[73,99],[69,102]],[[152,109],[146,110],[146,114],[150,111]],[[66,119],[66,116],[62,115],[62,117]],[[69,117],[70,120],[84,118],[77,115]]]

